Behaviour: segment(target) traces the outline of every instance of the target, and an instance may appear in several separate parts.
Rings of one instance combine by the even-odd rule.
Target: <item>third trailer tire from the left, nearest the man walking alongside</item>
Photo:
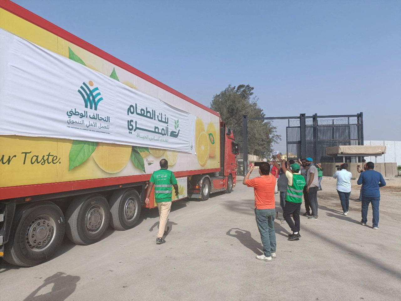
[[[128,230],[135,226],[141,214],[141,199],[132,188],[114,191],[109,200],[110,225],[115,230]]]

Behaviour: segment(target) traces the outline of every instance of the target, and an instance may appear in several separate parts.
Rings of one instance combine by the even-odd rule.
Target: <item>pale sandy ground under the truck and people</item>
[[[302,238],[293,242],[288,225],[275,222],[277,258],[263,262],[255,259],[261,244],[253,191],[238,179],[231,194],[174,203],[164,245],[155,244],[152,210],[134,229],[110,229],[96,244],[65,240],[40,266],[0,261],[0,300],[399,300],[400,180],[382,189],[380,228],[373,230],[371,209],[368,226],[360,225],[359,202],[350,201],[348,216],[340,214],[336,181],[324,177],[319,220],[302,216]],[[276,205],[281,218],[278,196]]]

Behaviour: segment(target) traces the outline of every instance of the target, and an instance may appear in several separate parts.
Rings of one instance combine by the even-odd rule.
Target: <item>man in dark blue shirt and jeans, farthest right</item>
[[[375,163],[366,163],[367,169],[360,173],[358,179],[358,185],[362,185],[362,220],[360,221],[363,226],[366,226],[368,207],[369,203],[372,203],[373,229],[379,229],[379,203],[380,203],[380,191],[379,187],[386,186],[386,182],[383,179],[381,173],[373,170]]]

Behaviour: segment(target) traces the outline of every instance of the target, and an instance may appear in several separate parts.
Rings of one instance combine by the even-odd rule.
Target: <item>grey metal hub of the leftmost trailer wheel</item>
[[[38,216],[28,226],[26,243],[33,251],[41,251],[52,241],[55,224],[49,216]]]

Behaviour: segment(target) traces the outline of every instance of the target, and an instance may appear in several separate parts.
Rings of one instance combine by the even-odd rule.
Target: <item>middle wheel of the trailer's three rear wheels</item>
[[[103,195],[76,197],[65,213],[67,237],[75,244],[93,244],[100,240],[109,226],[110,208]]]

